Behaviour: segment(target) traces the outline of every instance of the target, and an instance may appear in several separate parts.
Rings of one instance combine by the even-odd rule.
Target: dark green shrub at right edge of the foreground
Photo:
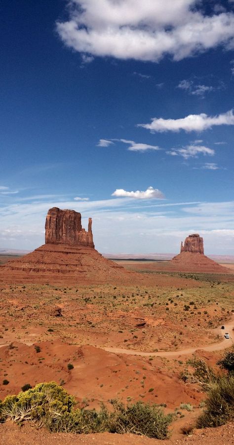
[[[205,401],[205,411],[197,419],[198,428],[217,427],[234,420],[234,377],[219,377]]]

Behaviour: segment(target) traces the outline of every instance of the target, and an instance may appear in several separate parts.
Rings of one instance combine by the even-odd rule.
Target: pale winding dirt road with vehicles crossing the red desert
[[[225,325],[225,329],[221,329],[221,326],[219,328],[216,328],[213,330],[213,332],[216,332],[217,334],[221,334],[222,336],[225,334],[225,332],[229,333],[230,339],[224,339],[222,342],[219,343],[213,343],[209,344],[208,346],[197,346],[197,347],[190,347],[186,349],[179,349],[178,351],[160,351],[160,352],[145,352],[145,351],[134,351],[132,349],[124,349],[124,348],[117,348],[117,347],[102,347],[101,349],[104,349],[107,352],[113,352],[114,354],[128,354],[128,355],[141,355],[142,357],[178,357],[181,355],[186,354],[193,354],[198,349],[202,349],[203,351],[222,351],[223,349],[226,349],[234,343],[233,337],[234,334],[232,332],[234,331],[234,317],[233,319]]]

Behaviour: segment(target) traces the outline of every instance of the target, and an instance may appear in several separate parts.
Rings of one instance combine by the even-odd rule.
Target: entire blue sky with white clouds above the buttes
[[[49,207],[101,252],[234,255],[234,1],[3,0],[0,247]]]

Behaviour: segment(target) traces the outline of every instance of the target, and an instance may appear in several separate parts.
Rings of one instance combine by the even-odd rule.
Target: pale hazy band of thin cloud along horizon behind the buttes
[[[48,208],[54,206],[81,212],[83,227],[87,227],[88,217],[92,216],[94,242],[100,252],[176,253],[181,240],[197,232],[204,238],[206,254],[234,255],[234,243],[230,242],[234,240],[234,202],[164,204],[128,197],[0,207],[0,247],[34,249],[42,244],[45,216]]]

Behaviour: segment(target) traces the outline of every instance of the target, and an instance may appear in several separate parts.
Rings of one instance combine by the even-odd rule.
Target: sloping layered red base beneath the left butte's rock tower
[[[136,276],[94,248],[68,244],[43,244],[0,266],[0,282],[9,283],[130,283]]]

